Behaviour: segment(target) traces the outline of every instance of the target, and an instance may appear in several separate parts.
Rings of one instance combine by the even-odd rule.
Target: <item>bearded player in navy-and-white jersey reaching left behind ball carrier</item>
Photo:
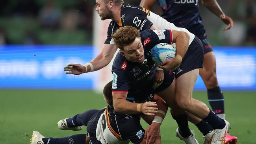
[[[117,50],[117,46],[114,44],[113,39],[111,39],[111,34],[115,33],[115,31],[122,26],[133,26],[139,31],[146,30],[147,28],[183,31],[189,35],[189,44],[191,44],[195,38],[195,35],[187,31],[185,28],[178,28],[174,26],[174,24],[167,22],[167,20],[148,11],[147,9],[125,4],[122,0],[96,0],[96,5],[96,11],[102,20],[112,19],[109,24],[108,37],[103,45],[102,52],[90,63],[87,63],[84,66],[80,64],[70,64],[66,66],[65,71],[67,74],[83,74],[99,70],[108,65]],[[163,78],[163,70],[156,70],[154,81],[160,85]],[[181,120],[181,118],[176,118],[176,121],[177,120]],[[194,124],[200,123],[200,126],[198,127],[201,129],[200,131],[202,131],[204,127],[208,127],[206,125],[209,125],[206,122],[201,123],[201,121],[202,120],[199,118],[193,120]],[[189,133],[187,133],[187,135]],[[192,134],[190,133],[190,135]]]

